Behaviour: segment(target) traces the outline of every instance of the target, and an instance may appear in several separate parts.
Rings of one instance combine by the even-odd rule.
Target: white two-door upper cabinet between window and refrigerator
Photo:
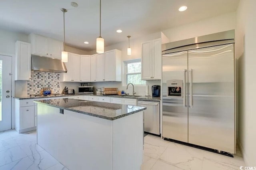
[[[142,43],[142,79],[161,79],[161,39]]]

